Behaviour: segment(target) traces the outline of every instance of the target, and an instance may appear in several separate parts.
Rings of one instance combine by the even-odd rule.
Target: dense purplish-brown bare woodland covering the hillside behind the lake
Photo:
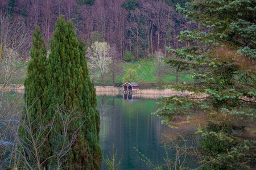
[[[200,25],[189,24],[176,11],[176,4],[184,6],[185,2],[187,0],[1,0],[0,8],[2,16],[9,16],[9,25],[19,21],[22,29],[26,29],[30,35],[26,47],[31,45],[35,25],[39,25],[49,49],[55,22],[60,15],[65,15],[66,19],[73,19],[77,36],[86,46],[96,40],[105,41],[117,49],[117,57],[123,57],[128,50],[135,59],[146,59],[159,50],[166,55],[168,46],[175,49],[189,46],[178,42],[177,35]],[[24,52],[22,55],[29,56]]]

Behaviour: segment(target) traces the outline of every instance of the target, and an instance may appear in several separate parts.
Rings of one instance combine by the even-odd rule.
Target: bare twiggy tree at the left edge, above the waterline
[[[0,76],[3,87],[10,83],[10,77],[24,70],[17,61],[25,59],[30,49],[30,39],[24,19],[21,17],[11,20],[9,14],[0,15]],[[19,71],[18,71],[19,70]],[[16,79],[12,79],[16,83]]]

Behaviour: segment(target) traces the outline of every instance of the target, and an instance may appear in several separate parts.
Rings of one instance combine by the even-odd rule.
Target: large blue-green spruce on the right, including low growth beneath
[[[199,130],[207,151],[204,167],[226,169],[247,167],[252,141],[234,137],[234,121],[244,130],[255,121],[255,46],[256,20],[253,1],[194,1],[177,10],[202,27],[181,32],[180,41],[191,43],[180,49],[168,48],[177,58],[166,59],[171,67],[190,71],[195,82],[170,86],[175,90],[192,91],[194,96],[171,96],[158,110],[167,122],[175,114],[195,110],[218,115],[214,124]],[[251,14],[251,15],[250,15]],[[197,100],[195,96],[203,96]],[[222,121],[228,126],[224,126]],[[237,155],[234,154],[236,152]],[[235,164],[236,163],[236,164]],[[205,168],[207,169],[207,168]]]

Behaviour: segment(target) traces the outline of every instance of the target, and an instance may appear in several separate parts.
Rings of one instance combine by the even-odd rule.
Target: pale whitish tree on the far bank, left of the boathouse
[[[105,86],[105,73],[111,63],[111,48],[107,42],[93,42],[87,50],[86,57],[89,59],[89,66],[94,70],[94,76],[97,73],[101,75],[102,86]]]

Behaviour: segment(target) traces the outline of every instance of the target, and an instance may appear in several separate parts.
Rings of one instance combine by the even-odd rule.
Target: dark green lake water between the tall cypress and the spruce
[[[123,156],[119,169],[148,169],[134,147],[155,165],[164,164],[166,154],[161,138],[171,128],[162,125],[159,117],[151,114],[160,107],[156,104],[157,100],[124,100],[122,96],[97,96],[97,100],[101,114],[100,144],[104,158],[112,152],[114,142],[117,159]],[[105,163],[102,163],[102,169],[108,169]]]

